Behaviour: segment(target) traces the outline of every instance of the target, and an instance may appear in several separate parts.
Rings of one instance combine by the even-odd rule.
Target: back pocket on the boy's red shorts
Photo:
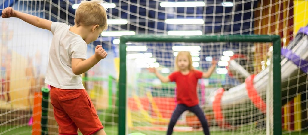
[[[75,92],[59,97],[60,104],[63,110],[70,116],[78,116],[84,113],[85,100],[80,96],[80,92]]]

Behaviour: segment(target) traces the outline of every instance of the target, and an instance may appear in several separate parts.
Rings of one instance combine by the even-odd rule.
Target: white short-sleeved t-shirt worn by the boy
[[[71,60],[86,59],[87,43],[80,35],[71,32],[70,27],[65,23],[51,23],[53,38],[45,83],[59,89],[84,89],[81,75],[72,71]]]

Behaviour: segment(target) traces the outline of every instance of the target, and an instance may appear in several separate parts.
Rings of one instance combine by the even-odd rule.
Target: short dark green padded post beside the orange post
[[[48,135],[47,121],[48,121],[48,105],[49,105],[49,89],[43,87],[42,89],[42,118],[41,118],[41,134]]]

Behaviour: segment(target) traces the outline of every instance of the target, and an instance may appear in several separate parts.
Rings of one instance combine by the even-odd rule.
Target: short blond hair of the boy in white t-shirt
[[[75,14],[75,25],[91,26],[98,24],[107,29],[107,13],[106,9],[101,5],[103,0],[83,0],[80,2]]]

